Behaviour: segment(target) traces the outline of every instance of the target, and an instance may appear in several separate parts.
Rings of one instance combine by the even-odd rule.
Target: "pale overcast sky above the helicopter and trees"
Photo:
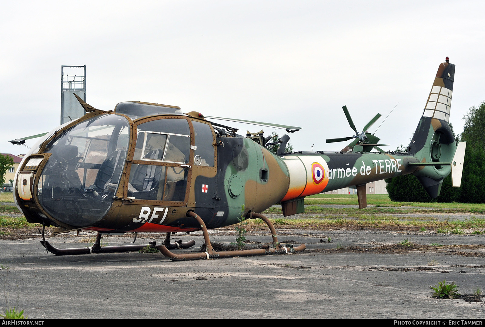
[[[290,143],[304,151],[346,145],[325,143],[354,134],[342,105],[361,129],[399,103],[376,135],[384,149],[407,145],[446,56],[455,132],[485,100],[484,1],[4,1],[1,11],[3,153],[25,153],[7,141],[59,125],[61,65],[86,64],[98,109],[145,101],[300,126]]]

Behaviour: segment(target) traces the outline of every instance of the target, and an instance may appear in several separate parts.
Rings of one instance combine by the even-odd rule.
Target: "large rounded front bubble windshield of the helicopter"
[[[111,208],[126,162],[128,120],[118,115],[81,121],[45,150],[38,197],[54,217],[75,226],[99,221]]]

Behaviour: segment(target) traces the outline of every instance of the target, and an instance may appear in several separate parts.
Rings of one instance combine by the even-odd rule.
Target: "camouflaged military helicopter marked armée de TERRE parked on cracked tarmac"
[[[422,116],[406,151],[383,151],[379,138],[367,129],[359,133],[346,106],[356,135],[339,152],[285,152],[290,139],[275,143],[259,133],[237,134],[238,129],[211,121],[199,112],[146,102],[121,102],[114,110],[96,109],[78,101],[86,111],[42,136],[22,160],[14,181],[16,206],[30,223],[55,226],[51,236],[79,230],[97,231],[92,247],[58,249],[41,243],[57,255],[135,251],[139,245],[100,246],[105,234],[166,233],[156,247],[171,260],[223,256],[294,253],[299,246],[279,244],[271,222],[260,213],[280,203],[283,215],[305,210],[304,198],[355,186],[359,208],[367,206],[366,183],[406,174],[415,175],[431,197],[439,195],[443,179],[452,173],[459,187],[465,143],[456,143],[449,118],[455,65],[439,65]],[[267,124],[288,133],[300,127]],[[19,139],[14,140],[20,142]],[[20,142],[21,143],[21,142]],[[376,152],[371,152],[373,149]],[[263,249],[215,251],[207,230],[260,218],[273,237]],[[174,253],[194,241],[175,243],[170,234],[202,230],[206,251]]]

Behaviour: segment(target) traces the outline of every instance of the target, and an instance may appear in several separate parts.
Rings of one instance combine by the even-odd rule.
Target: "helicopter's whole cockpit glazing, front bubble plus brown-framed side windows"
[[[184,205],[190,168],[215,169],[212,126],[173,113],[136,121],[97,115],[63,131],[43,152],[48,159],[37,184],[40,205],[55,219],[78,227],[99,222],[115,195]]]

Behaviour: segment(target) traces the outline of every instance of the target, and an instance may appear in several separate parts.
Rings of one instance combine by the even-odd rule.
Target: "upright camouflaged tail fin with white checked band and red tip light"
[[[414,173],[432,198],[439,195],[443,179],[450,174],[450,163],[456,150],[449,125],[454,70],[455,65],[449,63],[448,57],[446,62],[439,65],[428,101],[409,145],[409,152],[419,163],[432,164],[418,166]]]

